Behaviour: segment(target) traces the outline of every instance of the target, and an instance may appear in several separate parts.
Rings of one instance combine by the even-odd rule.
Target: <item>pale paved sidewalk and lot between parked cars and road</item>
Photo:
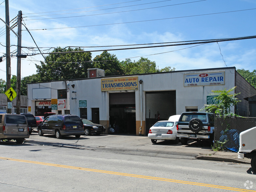
[[[73,136],[57,139],[53,135],[39,136],[32,133],[25,143],[33,145],[50,145],[68,148],[118,151],[125,154],[155,155],[163,157],[168,155],[186,155],[202,160],[225,161],[233,163],[250,163],[250,159],[238,159],[236,152],[215,152],[210,144],[189,142],[188,145],[173,144],[170,141],[157,141],[153,144],[147,136],[131,135],[99,135],[81,136],[79,139]]]

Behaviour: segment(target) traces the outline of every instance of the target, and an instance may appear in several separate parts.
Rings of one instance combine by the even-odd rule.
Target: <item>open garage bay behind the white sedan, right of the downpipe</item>
[[[176,91],[146,92],[146,135],[159,120],[176,115]]]

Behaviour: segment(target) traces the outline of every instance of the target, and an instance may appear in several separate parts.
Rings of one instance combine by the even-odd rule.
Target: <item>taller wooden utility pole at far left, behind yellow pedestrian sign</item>
[[[11,59],[10,59],[10,20],[9,20],[9,0],[5,0],[5,22],[6,22],[6,90],[11,87]],[[7,97],[7,103],[11,102]],[[11,109],[6,106],[7,113],[11,113]]]

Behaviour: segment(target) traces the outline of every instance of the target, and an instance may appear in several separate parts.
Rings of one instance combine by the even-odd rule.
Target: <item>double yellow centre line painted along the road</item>
[[[108,173],[108,174],[114,174],[114,175],[136,177],[136,178],[143,178],[143,179],[151,179],[151,180],[158,180],[158,181],[167,181],[167,182],[174,182],[174,183],[181,183],[181,184],[190,184],[190,185],[198,185],[198,186],[205,186],[205,187],[213,187],[213,188],[218,188],[218,189],[227,189],[227,190],[231,190],[231,191],[254,191],[254,190],[240,189],[240,188],[234,188],[234,187],[226,187],[226,186],[220,186],[220,185],[196,183],[196,182],[190,182],[190,181],[181,181],[181,180],[175,180],[175,179],[166,179],[166,178],[151,177],[151,176],[144,176],[144,175],[135,175],[135,174],[129,174],[129,173],[105,171],[105,170],[98,170],[98,169],[91,169],[91,168],[80,168],[80,167],[58,165],[58,164],[52,164],[52,163],[43,163],[43,162],[37,162],[37,161],[11,159],[11,158],[5,158],[5,157],[0,157],[0,159],[18,161],[18,162],[24,162],[24,163],[33,163],[33,164],[39,164],[39,165],[54,166],[54,167],[60,167],[60,168],[70,168],[70,169],[93,171],[93,172],[99,172],[99,173]],[[256,191],[254,191],[254,192],[256,192]]]

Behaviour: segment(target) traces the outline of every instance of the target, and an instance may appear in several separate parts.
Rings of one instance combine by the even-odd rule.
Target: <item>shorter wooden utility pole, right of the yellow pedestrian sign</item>
[[[20,114],[21,109],[21,20],[22,11],[18,14],[18,47],[17,47],[17,98],[16,98],[16,114]]]

